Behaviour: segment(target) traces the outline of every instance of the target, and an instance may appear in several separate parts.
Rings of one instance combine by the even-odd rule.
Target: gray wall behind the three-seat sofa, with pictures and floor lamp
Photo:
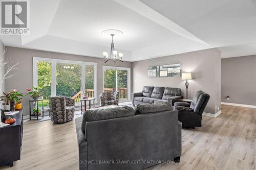
[[[193,80],[188,81],[188,98],[193,98],[197,90],[209,93],[205,112],[217,113],[218,107],[221,109],[221,52],[216,48],[133,62],[133,92],[141,91],[143,86],[180,87],[185,98],[185,81],[181,77],[147,77],[147,66],[175,63],[181,63],[182,72],[192,72]]]

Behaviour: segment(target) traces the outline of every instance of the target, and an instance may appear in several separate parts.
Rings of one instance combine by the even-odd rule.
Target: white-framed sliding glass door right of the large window
[[[103,66],[103,91],[118,90],[119,102],[130,100],[130,68]]]

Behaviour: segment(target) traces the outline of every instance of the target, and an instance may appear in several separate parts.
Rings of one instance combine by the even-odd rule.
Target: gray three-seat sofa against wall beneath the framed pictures
[[[142,92],[132,93],[133,106],[145,103],[164,103],[167,102],[174,106],[175,102],[180,102],[180,88],[172,87],[152,87],[144,86]]]

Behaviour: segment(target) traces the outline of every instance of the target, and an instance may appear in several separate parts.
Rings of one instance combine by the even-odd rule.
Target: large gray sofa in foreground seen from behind
[[[178,111],[153,105],[137,106],[138,115],[132,107],[107,106],[76,118],[79,169],[144,169],[164,160],[179,161]]]

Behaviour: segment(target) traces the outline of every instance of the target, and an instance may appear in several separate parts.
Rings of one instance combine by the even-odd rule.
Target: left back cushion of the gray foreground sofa
[[[82,116],[82,132],[86,132],[86,123],[96,120],[104,120],[135,115],[135,110],[129,106],[103,106],[86,110]]]

